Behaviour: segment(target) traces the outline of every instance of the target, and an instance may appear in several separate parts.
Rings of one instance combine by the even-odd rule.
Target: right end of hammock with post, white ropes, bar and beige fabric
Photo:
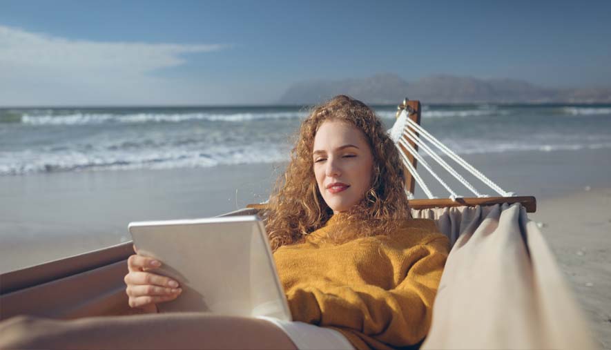
[[[389,130],[399,148],[413,198],[414,181],[429,200],[411,200],[411,215],[436,221],[452,244],[423,349],[595,349],[581,309],[536,224],[534,197],[515,197],[441,144],[420,124],[420,103],[403,101]],[[501,197],[487,197],[425,141]],[[418,147],[469,189],[457,195]],[[450,193],[438,200],[416,172],[416,161]]]

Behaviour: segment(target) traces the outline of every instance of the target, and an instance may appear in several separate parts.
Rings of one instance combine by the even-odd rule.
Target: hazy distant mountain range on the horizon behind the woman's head
[[[279,104],[318,104],[338,94],[367,104],[399,104],[405,97],[425,104],[611,103],[611,88],[541,88],[517,79],[434,75],[408,82],[394,74],[365,79],[314,80],[294,84]]]

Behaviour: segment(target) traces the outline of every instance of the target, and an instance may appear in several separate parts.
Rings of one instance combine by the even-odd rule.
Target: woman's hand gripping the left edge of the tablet
[[[129,296],[129,306],[142,309],[146,313],[157,312],[157,303],[174,300],[182,292],[175,280],[156,273],[147,272],[161,266],[159,260],[137,254],[127,260],[128,274],[125,276]]]

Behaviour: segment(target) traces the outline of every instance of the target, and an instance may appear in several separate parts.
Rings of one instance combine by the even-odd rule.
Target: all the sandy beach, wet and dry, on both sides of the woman
[[[537,212],[530,218],[542,223],[595,338],[601,348],[610,349],[608,150],[498,153],[465,159],[505,190],[537,197]],[[0,273],[126,242],[128,222],[210,217],[261,202],[283,168],[283,164],[251,164],[0,177]],[[432,179],[425,179],[438,197],[447,196]],[[469,195],[453,187],[460,195]],[[416,197],[423,193],[417,190]]]

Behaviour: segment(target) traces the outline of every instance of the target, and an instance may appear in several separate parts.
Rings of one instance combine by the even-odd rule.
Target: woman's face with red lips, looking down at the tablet
[[[342,121],[324,121],[314,137],[318,191],[333,213],[347,211],[371,188],[374,155],[365,135]]]

